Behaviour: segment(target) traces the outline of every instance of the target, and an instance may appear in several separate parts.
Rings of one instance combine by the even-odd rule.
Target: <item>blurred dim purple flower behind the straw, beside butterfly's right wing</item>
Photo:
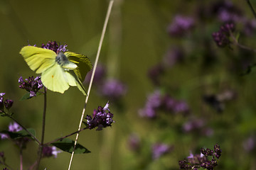
[[[93,78],[93,84],[100,85],[103,82],[103,78],[105,77],[106,69],[102,66],[102,64],[97,64],[97,68],[95,70],[95,76]],[[85,82],[89,83],[92,77],[92,70],[86,74]]]

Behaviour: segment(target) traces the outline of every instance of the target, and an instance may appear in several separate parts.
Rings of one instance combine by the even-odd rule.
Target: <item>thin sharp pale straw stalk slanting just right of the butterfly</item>
[[[104,39],[104,36],[105,36],[105,32],[106,32],[106,28],[107,28],[107,22],[108,22],[108,20],[110,18],[110,12],[111,12],[113,3],[114,3],[114,0],[111,0],[109,6],[107,8],[107,15],[106,15],[105,23],[104,23],[104,26],[103,26],[103,29],[102,29],[102,35],[100,37],[100,43],[99,43],[99,47],[98,47],[98,50],[97,50],[95,64],[94,64],[94,67],[92,69],[92,77],[90,79],[90,84],[89,84],[89,87],[88,87],[87,96],[85,98],[85,106],[82,109],[82,115],[81,115],[81,118],[80,118],[80,123],[79,123],[79,126],[78,126],[78,131],[81,129],[82,120],[83,120],[84,115],[85,115],[85,108],[87,106],[88,98],[90,96],[90,89],[92,88],[92,81],[93,81],[93,78],[94,78],[94,75],[95,75],[95,70],[97,68],[97,62],[98,62],[99,57],[100,57],[100,50],[101,50],[101,47],[102,47],[102,42],[103,42],[103,39]],[[70,164],[68,166],[68,170],[70,170],[70,167],[71,167],[71,164],[72,164],[72,161],[73,161],[74,152],[75,152],[75,146],[76,146],[76,144],[78,142],[78,137],[79,137],[79,132],[77,133],[77,135],[75,137],[75,145],[74,145],[74,149],[73,149],[73,152],[71,154],[71,157],[70,157]]]

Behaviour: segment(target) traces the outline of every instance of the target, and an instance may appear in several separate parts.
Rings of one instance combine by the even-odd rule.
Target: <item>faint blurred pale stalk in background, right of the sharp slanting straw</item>
[[[107,54],[107,77],[112,79],[119,77],[119,55],[122,47],[122,13],[121,6],[123,0],[115,0],[111,21],[109,23],[108,30],[108,54]],[[115,137],[117,130],[104,130],[101,137],[103,138],[100,145],[99,162],[100,170],[111,170],[112,169],[112,157],[115,145]],[[117,154],[117,153],[115,153]],[[108,155],[105,157],[105,155]]]

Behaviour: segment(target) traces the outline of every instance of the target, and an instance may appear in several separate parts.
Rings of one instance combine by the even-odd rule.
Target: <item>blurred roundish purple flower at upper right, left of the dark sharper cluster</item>
[[[194,26],[194,20],[191,17],[177,15],[168,26],[167,31],[171,36],[182,36],[191,30]]]

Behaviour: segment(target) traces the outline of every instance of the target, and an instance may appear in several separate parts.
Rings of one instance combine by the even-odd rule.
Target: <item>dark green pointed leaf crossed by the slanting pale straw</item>
[[[65,138],[63,140],[59,140],[58,142],[53,142],[51,145],[58,147],[58,149],[63,150],[64,152],[72,153],[75,145],[75,141]],[[75,146],[75,154],[86,154],[90,153],[88,149],[78,144]]]

